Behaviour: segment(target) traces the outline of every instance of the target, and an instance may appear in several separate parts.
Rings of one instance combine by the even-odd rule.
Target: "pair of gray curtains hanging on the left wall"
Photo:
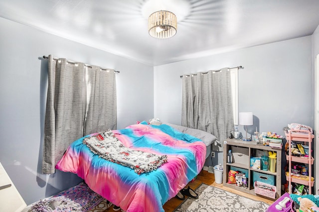
[[[101,71],[98,67],[87,67],[83,63],[68,63],[66,59],[55,60],[51,55],[48,60],[43,174],[55,172],[55,164],[76,139],[88,132],[116,129],[117,116],[114,71]],[[101,82],[106,85],[100,86]],[[110,90],[109,82],[112,82]],[[110,93],[113,98],[107,99],[113,104],[112,108],[108,105],[105,109],[104,93]]]

